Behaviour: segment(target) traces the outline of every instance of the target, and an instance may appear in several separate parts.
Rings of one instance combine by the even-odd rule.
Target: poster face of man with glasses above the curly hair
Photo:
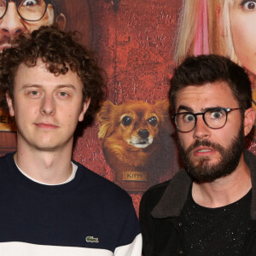
[[[40,26],[58,23],[61,29],[66,18],[59,13],[59,0],[0,0],[0,51],[11,47],[20,33],[31,33]]]

